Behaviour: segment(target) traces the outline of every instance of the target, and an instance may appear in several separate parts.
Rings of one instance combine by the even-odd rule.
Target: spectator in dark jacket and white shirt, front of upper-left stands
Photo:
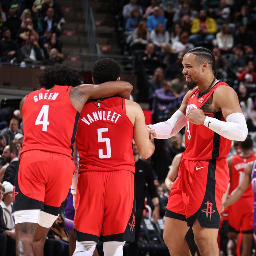
[[[20,49],[23,56],[23,61],[26,63],[39,64],[43,59],[42,52],[40,51],[40,46],[36,41],[34,35],[28,37],[28,44],[23,45]]]

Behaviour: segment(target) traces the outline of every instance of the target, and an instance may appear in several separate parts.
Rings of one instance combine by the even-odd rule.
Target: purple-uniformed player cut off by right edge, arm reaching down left
[[[223,203],[221,208],[221,213],[224,212],[225,208],[234,204],[241,196],[243,196],[243,193],[247,193],[247,189],[252,182],[252,191],[254,194],[254,202],[253,202],[253,237],[254,241],[256,243],[256,160],[253,162],[250,162],[246,164],[244,168],[244,178],[241,181],[241,183],[238,185],[238,187],[233,190],[231,195],[228,197],[228,199]],[[244,206],[243,206],[244,207]],[[248,253],[247,255],[249,255]]]

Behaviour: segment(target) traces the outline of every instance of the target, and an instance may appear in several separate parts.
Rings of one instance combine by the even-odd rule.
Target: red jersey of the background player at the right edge
[[[231,165],[231,178],[230,178],[230,188],[229,195],[231,192],[236,189],[236,187],[241,183],[244,178],[244,167],[247,163],[256,160],[255,155],[250,157],[242,157],[240,155],[233,156],[233,161]],[[245,191],[242,197],[253,197],[252,186],[249,186]]]

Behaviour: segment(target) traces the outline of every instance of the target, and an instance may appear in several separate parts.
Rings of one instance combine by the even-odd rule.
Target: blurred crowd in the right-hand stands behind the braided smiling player
[[[184,54],[205,46],[217,78],[244,91],[239,100],[256,131],[256,1],[126,0],[111,8],[123,53],[135,58],[137,101],[149,103],[155,122],[170,117],[188,91]]]

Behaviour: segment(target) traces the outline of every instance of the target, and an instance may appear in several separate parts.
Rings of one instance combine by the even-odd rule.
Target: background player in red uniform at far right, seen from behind
[[[244,167],[247,163],[256,159],[252,154],[252,139],[247,137],[241,143],[242,152],[240,155],[230,156],[227,159],[231,194],[244,178]],[[243,233],[243,244],[241,256],[246,256],[252,250],[252,231],[253,231],[253,192],[249,187],[241,198],[228,208],[229,241],[227,245],[228,255],[236,254],[238,234]]]

